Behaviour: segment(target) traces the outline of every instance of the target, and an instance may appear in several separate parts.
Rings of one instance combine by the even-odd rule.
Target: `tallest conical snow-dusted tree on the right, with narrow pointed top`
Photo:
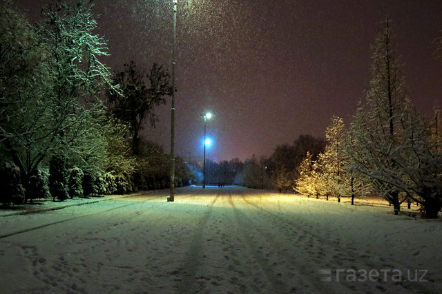
[[[373,50],[372,81],[349,132],[349,155],[353,170],[372,178],[376,192],[399,211],[401,188],[385,181],[387,173],[397,174],[392,150],[403,145],[404,112],[410,109],[404,74],[393,43],[392,22],[386,19]]]

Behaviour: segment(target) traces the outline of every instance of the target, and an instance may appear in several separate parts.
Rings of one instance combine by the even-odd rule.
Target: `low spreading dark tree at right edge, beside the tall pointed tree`
[[[415,111],[403,114],[401,145],[388,149],[394,165],[381,165],[369,173],[381,193],[398,192],[398,198],[412,198],[419,204],[423,217],[436,218],[442,208],[441,145],[432,140],[423,116]],[[382,195],[382,194],[381,194]]]

